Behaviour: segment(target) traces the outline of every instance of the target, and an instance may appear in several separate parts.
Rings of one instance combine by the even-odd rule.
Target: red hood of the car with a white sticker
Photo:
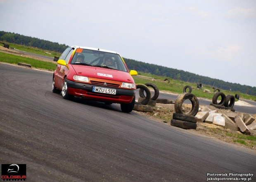
[[[79,76],[133,83],[132,76],[130,76],[130,73],[125,71],[84,65],[72,65],[72,67]]]

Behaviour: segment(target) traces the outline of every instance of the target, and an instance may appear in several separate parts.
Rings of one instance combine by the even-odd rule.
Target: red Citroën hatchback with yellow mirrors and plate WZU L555
[[[74,96],[119,103],[130,113],[135,104],[136,86],[119,53],[99,48],[72,46],[59,57],[52,79],[52,92],[62,93],[64,99]]]

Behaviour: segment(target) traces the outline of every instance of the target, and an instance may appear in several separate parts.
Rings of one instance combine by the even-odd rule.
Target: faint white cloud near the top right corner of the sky
[[[244,9],[242,7],[237,7],[236,9],[228,10],[227,16],[230,19],[247,20],[256,18],[256,11],[255,9]]]

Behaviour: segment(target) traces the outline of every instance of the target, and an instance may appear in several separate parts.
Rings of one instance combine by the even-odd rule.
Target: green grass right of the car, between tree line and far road
[[[213,95],[215,94],[213,92],[212,86],[210,85],[203,85],[203,89],[208,89],[211,91],[211,93],[208,92],[203,92],[203,89],[197,89],[197,84],[196,83],[189,83],[189,82],[184,82],[184,81],[180,81],[180,80],[173,80],[172,78],[168,78],[170,80],[170,83],[166,83],[164,82],[164,79],[166,77],[164,76],[157,76],[157,75],[152,75],[152,74],[145,74],[145,73],[138,73],[139,75],[142,76],[148,76],[148,77],[152,77],[154,78],[156,81],[152,81],[151,79],[147,79],[147,78],[142,78],[139,76],[133,76],[133,79],[135,81],[135,83],[142,83],[145,84],[147,82],[151,82],[156,84],[156,86],[159,88],[159,90],[164,90],[164,91],[169,91],[175,94],[181,94],[183,93],[183,88],[186,85],[190,85],[192,87],[192,94],[194,94],[196,97],[203,97],[203,98],[208,98],[208,99],[212,99]],[[243,99],[252,99],[252,100],[256,100],[256,96],[251,96],[248,94],[242,94],[241,92],[237,92],[237,91],[230,91],[230,90],[220,90],[221,92],[223,92],[225,95],[234,95],[235,94],[239,94],[240,98]],[[218,98],[220,99],[220,97]],[[236,101],[238,101],[237,99],[235,99]]]

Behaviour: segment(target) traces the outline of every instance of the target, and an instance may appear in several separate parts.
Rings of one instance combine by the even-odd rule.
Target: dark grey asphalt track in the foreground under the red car
[[[0,161],[28,181],[205,181],[254,173],[256,153],[196,135],[119,104],[51,91],[52,73],[0,63]]]

